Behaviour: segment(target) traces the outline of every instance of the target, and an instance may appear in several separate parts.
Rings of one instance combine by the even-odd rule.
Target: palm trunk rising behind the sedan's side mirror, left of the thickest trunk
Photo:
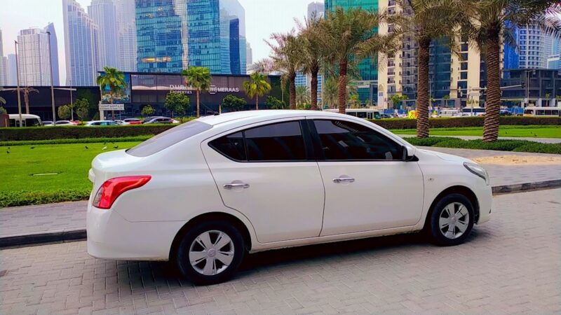
[[[430,39],[419,40],[419,81],[417,88],[417,137],[428,137],[428,59]]]

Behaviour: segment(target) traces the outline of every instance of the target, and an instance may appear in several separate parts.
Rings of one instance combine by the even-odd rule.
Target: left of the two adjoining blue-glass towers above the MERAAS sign
[[[187,0],[136,0],[137,69],[187,69]]]

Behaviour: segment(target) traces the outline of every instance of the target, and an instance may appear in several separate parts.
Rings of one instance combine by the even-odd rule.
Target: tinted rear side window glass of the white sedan
[[[210,147],[237,161],[302,161],[306,147],[299,121],[274,123],[215,139]]]

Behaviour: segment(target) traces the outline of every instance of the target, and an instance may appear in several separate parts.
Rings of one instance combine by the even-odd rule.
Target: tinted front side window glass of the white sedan
[[[314,120],[326,160],[401,160],[396,142],[369,127],[343,120]]]

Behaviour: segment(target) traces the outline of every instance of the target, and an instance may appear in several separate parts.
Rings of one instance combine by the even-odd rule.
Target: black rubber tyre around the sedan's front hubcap
[[[440,228],[440,218],[441,216],[447,217],[448,211],[446,211],[445,208],[450,204],[454,204],[454,209],[456,210],[459,209],[458,204],[462,204],[466,207],[468,216],[462,216],[457,219],[460,223],[467,223],[467,228],[464,232],[461,232],[460,228],[457,227],[456,224],[452,225],[452,227],[454,227],[453,229],[450,225],[446,225],[445,228]],[[471,201],[464,195],[453,193],[442,197],[435,204],[433,211],[431,211],[431,216],[428,218],[426,232],[434,244],[439,246],[454,246],[461,244],[466,240],[473,228],[474,220],[475,211],[473,211],[473,204],[471,204]],[[452,232],[452,230],[454,230],[454,232]],[[457,236],[458,232],[461,232],[460,236]],[[445,236],[447,233],[449,233],[448,237]]]

